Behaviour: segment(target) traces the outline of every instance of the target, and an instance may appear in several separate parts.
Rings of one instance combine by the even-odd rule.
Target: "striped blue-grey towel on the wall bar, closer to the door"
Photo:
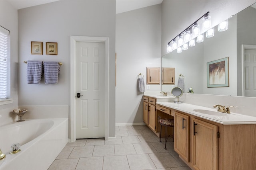
[[[44,83],[57,84],[60,64],[57,61],[44,61]]]

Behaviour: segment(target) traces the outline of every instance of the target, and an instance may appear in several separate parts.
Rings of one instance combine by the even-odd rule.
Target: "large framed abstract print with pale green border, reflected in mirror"
[[[207,63],[207,87],[229,87],[228,57]]]

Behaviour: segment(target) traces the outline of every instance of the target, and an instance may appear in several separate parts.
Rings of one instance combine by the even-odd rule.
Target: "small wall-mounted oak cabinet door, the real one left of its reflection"
[[[160,84],[160,67],[147,68],[147,84]]]

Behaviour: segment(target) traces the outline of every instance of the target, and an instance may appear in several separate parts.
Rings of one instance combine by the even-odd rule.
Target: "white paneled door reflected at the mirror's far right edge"
[[[256,49],[244,50],[244,96],[256,97]]]

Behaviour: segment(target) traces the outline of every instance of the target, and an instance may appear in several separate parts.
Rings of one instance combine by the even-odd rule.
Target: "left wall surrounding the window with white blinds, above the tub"
[[[0,0],[0,25],[10,30],[10,98],[14,99],[12,104],[0,106],[0,124],[4,124],[16,118],[12,110],[18,107],[18,12],[5,0]]]

